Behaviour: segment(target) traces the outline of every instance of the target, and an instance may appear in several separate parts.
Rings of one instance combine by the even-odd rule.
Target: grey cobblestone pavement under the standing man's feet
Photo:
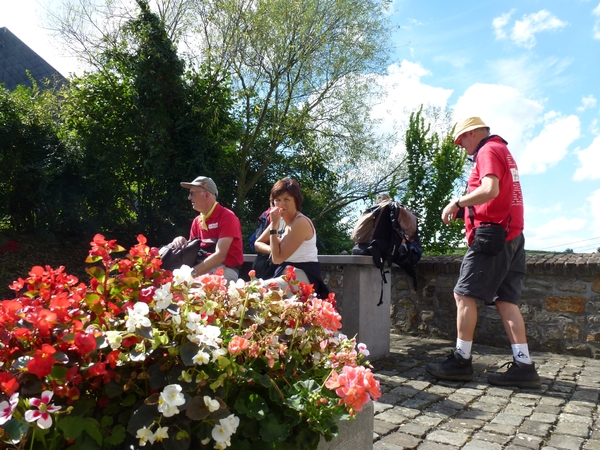
[[[426,374],[453,347],[392,334],[390,354],[373,362],[383,393],[374,450],[600,450],[600,360],[532,352],[541,389],[500,388],[487,375],[512,360],[510,348],[474,344],[473,381]]]

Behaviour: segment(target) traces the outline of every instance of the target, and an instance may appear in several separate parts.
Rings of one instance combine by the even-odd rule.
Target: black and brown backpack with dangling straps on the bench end
[[[388,267],[397,264],[412,278],[417,289],[417,263],[423,250],[418,233],[418,219],[415,214],[396,201],[380,203],[365,210],[352,231],[353,255],[370,255],[375,266],[381,271],[381,295]]]

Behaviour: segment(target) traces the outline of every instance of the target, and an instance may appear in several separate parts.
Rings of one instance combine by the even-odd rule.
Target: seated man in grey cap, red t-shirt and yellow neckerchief
[[[189,189],[192,208],[200,213],[192,222],[190,240],[199,238],[200,247],[208,253],[204,261],[193,267],[194,273],[214,273],[222,268],[227,281],[237,281],[244,262],[240,220],[217,202],[219,191],[211,178],[200,176],[194,181],[182,182],[181,186]],[[182,247],[186,243],[187,239],[179,236],[171,245]]]

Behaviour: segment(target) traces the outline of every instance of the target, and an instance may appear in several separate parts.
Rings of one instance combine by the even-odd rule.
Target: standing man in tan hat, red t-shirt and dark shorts
[[[442,380],[473,378],[471,348],[479,300],[498,309],[514,356],[505,364],[508,369],[490,374],[488,382],[539,388],[540,377],[529,356],[525,321],[519,309],[526,265],[523,194],[517,164],[507,142],[500,136],[490,136],[489,127],[479,117],[458,123],[454,142],[467,151],[475,166],[467,193],[446,205],[442,220],[447,225],[464,211],[469,250],[454,287],[456,349],[446,361],[427,364],[426,370]]]

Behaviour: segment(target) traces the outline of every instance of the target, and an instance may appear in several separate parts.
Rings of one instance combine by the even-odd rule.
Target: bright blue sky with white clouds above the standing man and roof
[[[0,0],[8,27],[63,74],[74,58],[43,28],[35,0]],[[478,115],[509,142],[525,198],[526,248],[600,247],[599,0],[395,0],[385,126],[420,104]]]

